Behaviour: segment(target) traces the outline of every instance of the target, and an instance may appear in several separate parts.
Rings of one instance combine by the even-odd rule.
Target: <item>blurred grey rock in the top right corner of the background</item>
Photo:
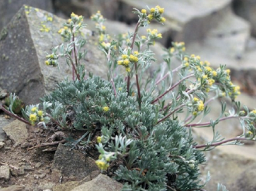
[[[234,12],[251,24],[251,34],[256,36],[256,2],[254,0],[234,0]]]

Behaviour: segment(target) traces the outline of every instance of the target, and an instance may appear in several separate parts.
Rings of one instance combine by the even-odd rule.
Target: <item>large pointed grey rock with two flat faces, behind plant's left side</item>
[[[52,17],[53,21],[48,21]],[[22,7],[6,28],[0,41],[0,86],[16,92],[26,104],[39,102],[40,97],[54,90],[57,82],[71,77],[71,68],[60,60],[60,70],[48,67],[44,62],[46,52],[62,43],[58,30],[64,19],[32,7]],[[49,29],[44,31],[43,27]],[[43,31],[42,31],[43,30]],[[90,31],[84,30],[88,36]],[[88,53],[85,69],[106,78],[106,59],[93,38],[85,46]]]

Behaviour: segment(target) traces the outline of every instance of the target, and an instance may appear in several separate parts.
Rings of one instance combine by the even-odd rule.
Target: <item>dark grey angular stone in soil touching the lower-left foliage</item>
[[[59,169],[62,176],[85,177],[98,170],[95,161],[81,152],[60,144],[54,155],[52,169]]]

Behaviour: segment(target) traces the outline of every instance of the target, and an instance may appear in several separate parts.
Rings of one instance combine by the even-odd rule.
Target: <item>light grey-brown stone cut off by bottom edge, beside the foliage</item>
[[[123,185],[110,179],[109,176],[99,174],[95,179],[85,182],[71,191],[119,191]]]

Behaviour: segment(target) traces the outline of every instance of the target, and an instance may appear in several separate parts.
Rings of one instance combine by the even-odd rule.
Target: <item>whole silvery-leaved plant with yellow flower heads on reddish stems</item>
[[[218,145],[240,145],[241,140],[255,141],[256,111],[241,110],[235,101],[240,88],[231,82],[230,70],[225,66],[213,69],[200,56],[186,54],[184,43],[165,49],[167,70],[145,77],[155,61],[150,46],[162,36],[157,29],[148,28],[146,36],[139,36],[138,31],[153,21],[164,23],[164,8],[133,12],[139,18],[134,32],[117,39],[106,33],[100,12],[91,17],[99,49],[106,55],[108,80],[86,73],[82,48],[89,37],[81,33],[83,17],[72,13],[59,31],[65,43],[55,47],[45,62],[61,67],[58,58],[66,58],[72,80],[58,84],[41,104],[27,106],[19,119],[45,128],[51,122],[62,130],[84,131],[70,145],[88,148],[97,142],[91,147],[99,151],[96,165],[122,182],[123,190],[202,190],[205,183],[199,179],[199,165],[206,162],[203,152]],[[176,68],[171,66],[174,57],[180,62]],[[173,81],[175,76],[177,81]],[[227,114],[223,103],[220,118],[200,122],[210,112],[209,103],[219,97],[230,97],[234,110]],[[221,138],[216,124],[230,118],[240,120],[243,134]],[[196,127],[212,128],[213,140],[204,145],[194,142],[192,128]],[[217,189],[226,190],[221,185]]]

